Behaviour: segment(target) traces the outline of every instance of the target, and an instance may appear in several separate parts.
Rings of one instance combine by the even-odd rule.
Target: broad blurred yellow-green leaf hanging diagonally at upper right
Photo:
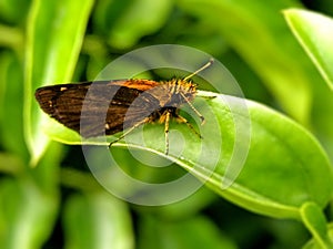
[[[261,77],[283,110],[309,125],[311,71],[304,70],[306,56],[281,18],[281,10],[297,7],[299,1],[274,0],[268,4],[248,0],[181,0],[178,6],[215,28]]]

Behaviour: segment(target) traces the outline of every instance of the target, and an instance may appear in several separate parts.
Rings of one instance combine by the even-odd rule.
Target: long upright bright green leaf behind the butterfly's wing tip
[[[49,141],[40,132],[41,111],[33,92],[43,84],[70,82],[93,0],[34,0],[26,53],[26,141],[36,164]]]

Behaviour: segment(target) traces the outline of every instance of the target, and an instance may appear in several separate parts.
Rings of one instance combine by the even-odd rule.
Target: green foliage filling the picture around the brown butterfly
[[[1,1],[0,248],[332,248],[332,208],[327,217],[323,209],[333,194],[333,24],[295,8],[292,0]],[[172,122],[169,155],[161,125],[110,152],[119,134],[84,141],[85,159],[98,165],[88,172],[81,149],[62,145],[80,136],[39,110],[34,90],[93,80],[119,54],[163,43],[211,53],[249,100],[200,91],[193,105],[206,122],[194,128],[203,139]],[[184,189],[159,195],[131,185],[104,166],[99,147],[134,179],[163,184],[190,173],[201,188],[162,207],[114,199],[110,186],[139,204]]]

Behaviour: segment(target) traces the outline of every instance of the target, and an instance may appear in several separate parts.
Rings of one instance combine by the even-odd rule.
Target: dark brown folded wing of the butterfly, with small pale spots
[[[84,137],[112,135],[159,108],[159,101],[144,93],[153,87],[147,82],[150,84],[132,80],[46,86],[37,90],[36,98],[47,114]]]

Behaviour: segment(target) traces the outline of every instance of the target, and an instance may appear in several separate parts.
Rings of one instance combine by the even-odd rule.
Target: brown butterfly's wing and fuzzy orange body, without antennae
[[[51,117],[83,137],[93,137],[149,122],[168,122],[169,131],[170,117],[186,122],[179,116],[178,108],[190,104],[195,93],[195,84],[174,79],[60,84],[40,87],[34,95]]]

